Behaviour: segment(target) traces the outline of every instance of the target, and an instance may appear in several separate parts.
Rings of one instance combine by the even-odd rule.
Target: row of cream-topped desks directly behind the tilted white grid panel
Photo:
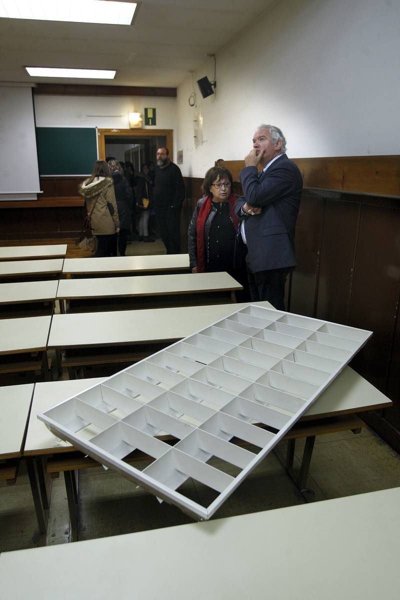
[[[42,361],[47,362],[43,356],[50,349],[56,350],[58,370],[135,362],[244,306],[246,303],[1,319],[0,375],[43,368]]]

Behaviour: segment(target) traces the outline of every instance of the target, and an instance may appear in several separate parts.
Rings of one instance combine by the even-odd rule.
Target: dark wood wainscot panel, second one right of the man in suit
[[[340,197],[340,194],[339,194]],[[361,206],[326,199],[315,316],[348,322]]]

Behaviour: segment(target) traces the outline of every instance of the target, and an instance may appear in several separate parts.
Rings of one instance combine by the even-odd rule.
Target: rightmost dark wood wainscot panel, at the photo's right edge
[[[363,205],[348,324],[374,332],[354,368],[386,391],[399,301],[400,209]]]

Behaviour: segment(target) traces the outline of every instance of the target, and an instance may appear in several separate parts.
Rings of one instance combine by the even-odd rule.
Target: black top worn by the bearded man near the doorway
[[[180,210],[185,197],[185,185],[180,168],[169,163],[168,166],[156,168],[154,181],[154,204],[156,209]]]

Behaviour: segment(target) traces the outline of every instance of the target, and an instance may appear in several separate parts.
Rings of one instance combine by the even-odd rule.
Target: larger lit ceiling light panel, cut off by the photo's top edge
[[[130,25],[136,6],[111,0],[1,0],[0,17]]]

